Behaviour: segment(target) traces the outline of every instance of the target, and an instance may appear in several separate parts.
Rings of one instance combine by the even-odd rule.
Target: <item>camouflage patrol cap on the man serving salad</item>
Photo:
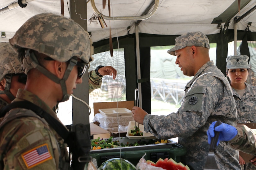
[[[175,38],[175,46],[167,51],[167,53],[175,56],[175,51],[185,47],[205,47],[210,49],[209,39],[202,32],[187,32]]]

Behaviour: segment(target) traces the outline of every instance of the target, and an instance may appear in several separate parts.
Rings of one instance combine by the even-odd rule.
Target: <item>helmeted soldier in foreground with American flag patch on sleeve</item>
[[[28,75],[24,90],[19,89],[12,104],[29,102],[60,124],[52,108],[68,100],[82,83],[92,60],[88,32],[72,19],[39,14],[27,20],[9,41]],[[0,169],[70,168],[64,140],[32,110],[13,108],[1,122]]]

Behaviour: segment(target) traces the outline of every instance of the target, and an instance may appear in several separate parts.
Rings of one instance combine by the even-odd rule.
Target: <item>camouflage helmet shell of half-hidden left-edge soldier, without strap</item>
[[[6,74],[24,73],[18,59],[18,54],[7,42],[0,43],[0,81]]]

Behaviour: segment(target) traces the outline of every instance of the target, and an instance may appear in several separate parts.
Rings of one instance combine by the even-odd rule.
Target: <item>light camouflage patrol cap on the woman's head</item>
[[[227,69],[249,69],[248,59],[247,55],[228,56],[226,58]]]

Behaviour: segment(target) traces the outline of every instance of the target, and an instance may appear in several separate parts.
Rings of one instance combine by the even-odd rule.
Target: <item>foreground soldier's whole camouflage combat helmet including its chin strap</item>
[[[28,19],[9,40],[13,49],[19,53],[22,59],[22,68],[27,74],[32,68],[38,69],[55,83],[61,84],[63,99],[67,94],[65,80],[71,70],[78,63],[78,58],[83,65],[92,61],[89,33],[86,32],[74,20],[52,13],[38,14]],[[57,78],[39,64],[34,53],[37,51],[47,55],[52,60],[69,62],[63,79]],[[83,67],[86,68],[86,67]]]

